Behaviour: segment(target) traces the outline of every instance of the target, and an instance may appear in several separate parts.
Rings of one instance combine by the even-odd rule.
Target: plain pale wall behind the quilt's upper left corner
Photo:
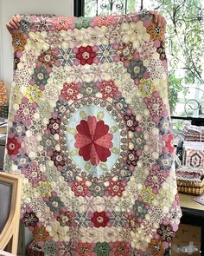
[[[0,80],[6,83],[8,95],[13,76],[13,49],[5,24],[17,13],[73,16],[73,0],[0,0]]]

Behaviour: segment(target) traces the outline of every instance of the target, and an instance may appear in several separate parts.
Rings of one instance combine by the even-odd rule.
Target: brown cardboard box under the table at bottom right
[[[201,227],[180,224],[175,238],[172,241],[171,255],[200,256]]]

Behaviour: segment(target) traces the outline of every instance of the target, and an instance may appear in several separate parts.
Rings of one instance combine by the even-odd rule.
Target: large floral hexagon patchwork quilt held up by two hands
[[[148,11],[22,15],[4,171],[39,255],[162,256],[178,228],[163,30]]]

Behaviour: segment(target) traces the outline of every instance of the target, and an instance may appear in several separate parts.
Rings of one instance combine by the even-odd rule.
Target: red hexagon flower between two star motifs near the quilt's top
[[[95,51],[89,45],[86,47],[80,46],[80,48],[78,49],[78,53],[76,54],[76,57],[80,60],[81,65],[92,65],[95,56]]]

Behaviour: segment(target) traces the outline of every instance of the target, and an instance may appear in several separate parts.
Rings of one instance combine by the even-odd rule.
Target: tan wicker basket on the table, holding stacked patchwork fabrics
[[[204,193],[204,179],[198,181],[177,181],[178,192],[182,194],[199,195]]]

